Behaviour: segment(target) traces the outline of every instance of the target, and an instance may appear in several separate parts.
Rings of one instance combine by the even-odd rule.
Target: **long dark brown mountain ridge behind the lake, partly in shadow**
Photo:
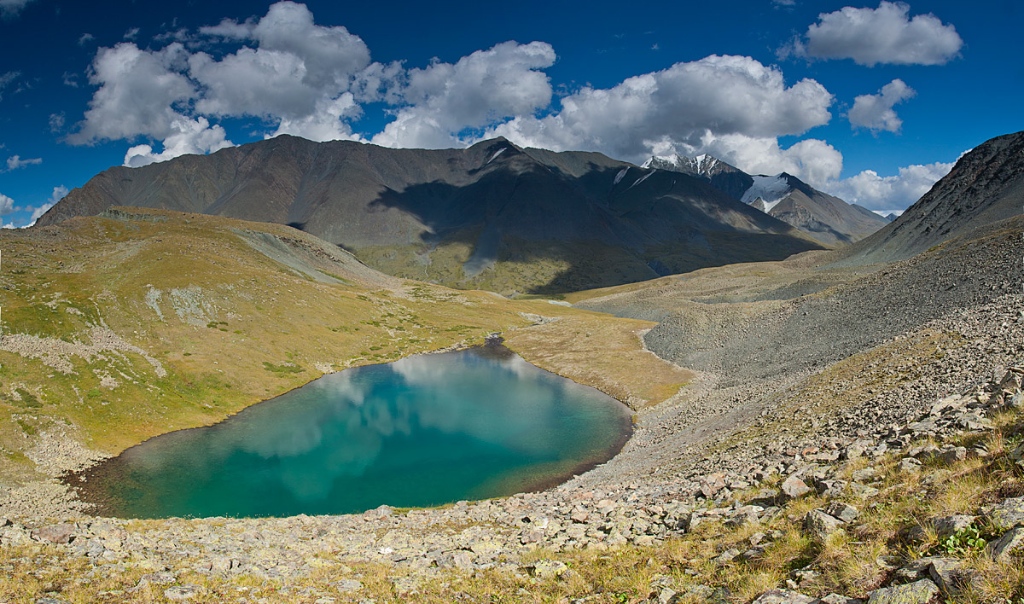
[[[280,136],[111,168],[38,224],[111,206],[289,224],[389,274],[503,294],[610,286],[822,247],[703,178],[503,138],[424,150]]]

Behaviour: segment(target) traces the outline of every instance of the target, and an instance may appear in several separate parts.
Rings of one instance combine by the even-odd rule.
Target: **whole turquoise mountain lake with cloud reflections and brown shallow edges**
[[[436,506],[556,484],[610,459],[631,429],[611,397],[486,346],[328,375],[71,482],[133,518]]]

